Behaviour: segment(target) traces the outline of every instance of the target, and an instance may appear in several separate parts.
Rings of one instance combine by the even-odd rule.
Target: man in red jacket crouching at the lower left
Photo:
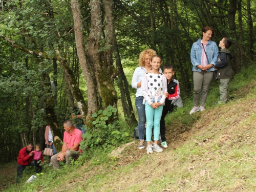
[[[34,156],[33,144],[29,143],[26,147],[22,148],[18,152],[18,166],[17,166],[17,178],[16,183],[19,182],[20,177],[26,166],[35,166],[35,162],[32,160]]]

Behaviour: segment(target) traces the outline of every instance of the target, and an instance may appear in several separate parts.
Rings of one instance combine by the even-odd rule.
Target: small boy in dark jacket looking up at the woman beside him
[[[232,45],[232,41],[228,37],[223,37],[220,40],[219,47],[221,51],[218,55],[217,64],[215,69],[217,70],[217,78],[220,79],[220,100],[217,104],[224,104],[227,102],[227,92],[229,81],[233,77],[233,71],[230,60],[233,58],[228,48]]]

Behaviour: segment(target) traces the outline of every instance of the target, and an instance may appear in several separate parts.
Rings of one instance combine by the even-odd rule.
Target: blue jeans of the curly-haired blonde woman
[[[145,122],[146,122],[146,113],[145,105],[142,103],[144,97],[136,97],[135,105],[138,112],[139,122],[138,122],[138,131],[139,131],[139,140],[144,140],[145,132]]]

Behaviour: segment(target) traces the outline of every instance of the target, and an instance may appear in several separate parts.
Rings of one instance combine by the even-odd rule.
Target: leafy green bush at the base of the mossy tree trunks
[[[126,126],[121,126],[117,120],[117,109],[109,105],[105,110],[92,114],[94,120],[88,122],[84,140],[80,143],[83,157],[95,150],[109,152],[113,147],[125,143],[129,139]],[[113,119],[113,120],[112,120]],[[91,127],[89,129],[89,127]]]

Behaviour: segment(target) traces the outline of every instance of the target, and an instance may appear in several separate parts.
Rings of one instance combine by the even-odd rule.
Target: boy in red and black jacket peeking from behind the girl
[[[183,107],[182,100],[180,97],[180,86],[179,81],[173,78],[175,70],[173,66],[165,65],[163,67],[163,74],[167,79],[167,93],[164,93],[166,96],[165,104],[163,106],[163,113],[160,121],[160,141],[161,145],[167,148],[166,138],[165,138],[165,116],[168,112],[173,112],[176,106],[180,108]]]

